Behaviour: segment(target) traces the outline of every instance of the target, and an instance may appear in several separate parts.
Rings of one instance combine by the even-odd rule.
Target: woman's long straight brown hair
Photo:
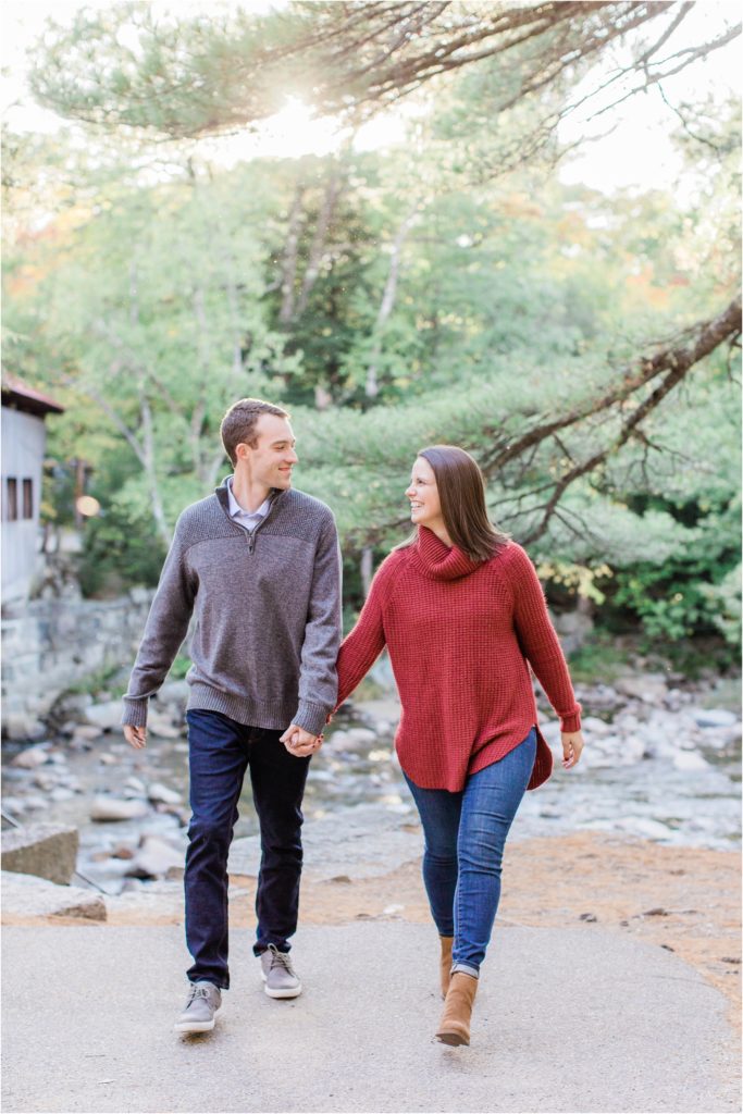
[[[418,456],[433,469],[441,517],[451,540],[470,560],[489,560],[510,537],[488,518],[485,476],[477,460],[456,444],[430,444]]]

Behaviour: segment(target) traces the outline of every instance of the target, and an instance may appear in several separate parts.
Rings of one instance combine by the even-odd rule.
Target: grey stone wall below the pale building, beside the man
[[[39,737],[38,721],[61,693],[91,674],[130,665],[153,594],[133,588],[117,599],[35,599],[3,608],[3,733]]]

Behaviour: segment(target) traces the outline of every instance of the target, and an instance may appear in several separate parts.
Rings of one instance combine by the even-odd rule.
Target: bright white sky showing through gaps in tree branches
[[[26,53],[43,29],[49,16],[58,22],[71,20],[75,12],[86,4],[74,0],[0,0],[0,28],[2,31],[3,78],[0,81],[2,114],[16,130],[39,130],[53,133],[60,127],[60,119],[51,111],[35,105],[25,85],[27,70]],[[88,7],[110,7],[102,0],[92,0]],[[153,0],[153,7],[173,10],[172,4]],[[243,8],[262,11],[271,7],[270,0],[252,0]],[[275,7],[275,4],[274,4]],[[178,0],[177,11],[209,12],[215,0]],[[696,0],[694,9],[677,32],[666,43],[666,52],[672,53],[680,46],[696,45],[720,33],[723,27],[734,22],[739,16],[739,4],[734,0]],[[610,74],[612,65],[623,61],[622,48],[612,60],[603,63],[604,75]],[[740,96],[741,72],[743,70],[741,39],[714,51],[704,61],[697,61],[674,78],[664,81],[663,89],[672,104],[696,100],[705,94],[724,99],[729,91]],[[595,81],[592,75],[587,82]],[[575,90],[576,99],[581,88]],[[588,186],[612,193],[615,189],[645,190],[651,188],[674,189],[681,173],[681,160],[669,138],[677,127],[675,114],[664,102],[661,92],[654,89],[625,101],[619,108],[606,113],[597,120],[587,120],[585,111],[577,111],[560,126],[559,138],[571,144],[585,136],[598,136],[592,143],[581,144],[580,150],[564,159],[560,177],[565,182],[583,182]],[[384,147],[403,141],[404,119],[397,114],[377,117],[358,137],[362,148]],[[287,98],[287,104],[277,117],[268,121],[258,136],[247,136],[221,140],[212,144],[212,153],[226,164],[255,155],[302,155],[309,152],[324,154],[338,143],[333,126],[327,120],[313,120],[307,109],[299,101]]]

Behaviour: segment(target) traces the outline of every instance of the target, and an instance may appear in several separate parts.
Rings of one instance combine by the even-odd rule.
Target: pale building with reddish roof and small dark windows
[[[28,596],[39,543],[45,418],[62,413],[52,399],[2,378],[2,602]]]

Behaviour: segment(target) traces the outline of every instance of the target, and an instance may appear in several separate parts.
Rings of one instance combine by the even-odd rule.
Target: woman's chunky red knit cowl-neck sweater
[[[532,726],[537,756],[528,788],[549,778],[553,755],[537,723],[529,664],[561,730],[580,727],[541,585],[515,541],[476,563],[420,527],[412,545],[394,549],[341,645],[339,707],[385,645],[402,704],[400,765],[422,789],[458,792]]]

